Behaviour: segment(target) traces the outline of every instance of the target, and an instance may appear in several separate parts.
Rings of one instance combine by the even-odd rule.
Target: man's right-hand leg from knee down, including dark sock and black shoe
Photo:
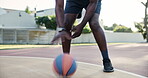
[[[95,37],[95,40],[100,48],[103,57],[104,72],[113,72],[113,67],[108,56],[108,49],[107,49],[105,35],[98,22],[99,21],[98,18],[99,14],[95,13],[89,21],[90,28],[93,32],[93,35]]]

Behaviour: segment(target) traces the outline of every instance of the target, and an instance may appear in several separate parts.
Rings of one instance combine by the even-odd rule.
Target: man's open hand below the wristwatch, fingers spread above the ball
[[[57,33],[54,38],[52,39],[51,43],[54,43],[56,40],[58,40],[59,38],[62,38],[62,42],[65,42],[65,39],[71,40],[72,37],[70,36],[70,34],[66,31],[61,31],[59,33]]]

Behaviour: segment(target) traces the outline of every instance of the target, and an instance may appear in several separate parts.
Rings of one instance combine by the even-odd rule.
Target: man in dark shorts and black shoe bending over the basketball
[[[86,14],[82,22],[72,29],[76,18],[81,17],[80,14],[83,8],[86,9]],[[79,37],[86,23],[89,22],[103,57],[103,71],[113,72],[114,70],[108,56],[105,35],[98,22],[100,9],[101,0],[67,0],[64,11],[64,0],[56,0],[55,11],[59,33],[53,38],[52,42],[61,38],[63,52],[70,53],[71,39]],[[73,35],[71,35],[71,31],[74,31]]]

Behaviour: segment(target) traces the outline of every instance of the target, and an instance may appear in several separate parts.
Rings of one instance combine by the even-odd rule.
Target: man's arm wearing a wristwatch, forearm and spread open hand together
[[[53,44],[56,40],[59,38],[62,38],[62,42],[65,41],[65,39],[71,40],[72,37],[70,36],[69,33],[66,31],[62,31],[64,28],[64,0],[56,0],[56,6],[55,6],[55,13],[56,13],[56,22],[57,22],[57,30],[58,33],[54,36],[52,39],[51,43]],[[60,27],[60,28],[59,28]]]

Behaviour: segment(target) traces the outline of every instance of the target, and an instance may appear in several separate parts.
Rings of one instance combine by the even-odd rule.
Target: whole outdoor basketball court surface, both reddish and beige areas
[[[147,47],[145,43],[109,45],[115,72],[104,73],[96,45],[72,46],[78,65],[72,78],[147,78]],[[61,53],[61,47],[0,50],[0,78],[57,78],[52,63]]]

